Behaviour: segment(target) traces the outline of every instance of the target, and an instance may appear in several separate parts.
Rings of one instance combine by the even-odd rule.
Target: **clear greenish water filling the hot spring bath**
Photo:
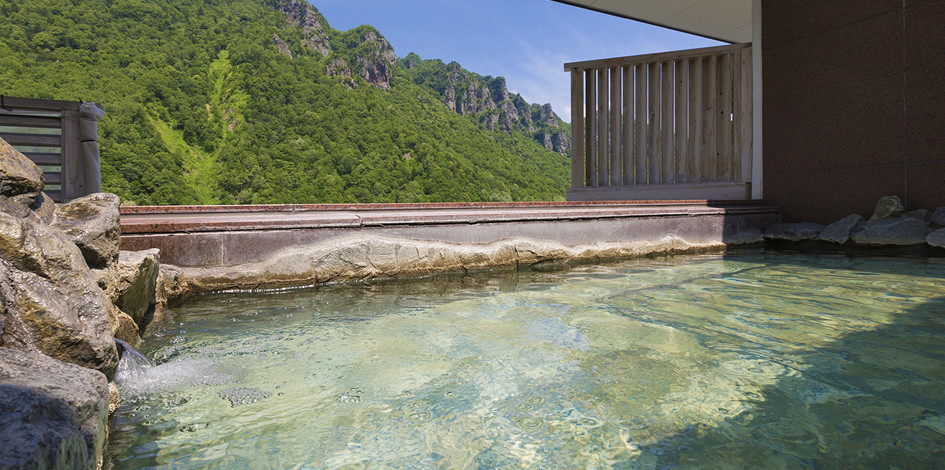
[[[202,297],[138,468],[941,468],[945,264],[751,252]]]

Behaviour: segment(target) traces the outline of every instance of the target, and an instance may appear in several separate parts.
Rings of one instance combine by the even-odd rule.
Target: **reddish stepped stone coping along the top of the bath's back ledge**
[[[449,203],[123,207],[123,234],[483,224],[777,212],[761,203]]]

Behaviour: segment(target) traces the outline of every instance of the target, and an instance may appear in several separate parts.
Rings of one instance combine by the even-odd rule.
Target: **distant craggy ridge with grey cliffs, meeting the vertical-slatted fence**
[[[502,77],[483,77],[458,63],[422,60],[408,54],[400,66],[414,82],[437,92],[443,103],[463,116],[473,116],[491,130],[531,135],[548,150],[570,155],[570,130],[551,109],[528,104],[521,95],[509,93]]]

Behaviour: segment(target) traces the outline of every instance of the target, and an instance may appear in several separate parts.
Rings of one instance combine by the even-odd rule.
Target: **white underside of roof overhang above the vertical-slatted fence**
[[[752,0],[553,0],[732,43],[751,42]]]

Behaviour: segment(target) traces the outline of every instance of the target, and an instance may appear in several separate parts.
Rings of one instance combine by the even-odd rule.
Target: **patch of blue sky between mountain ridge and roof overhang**
[[[720,43],[551,0],[310,0],[335,29],[376,27],[398,57],[456,61],[502,76],[532,103],[571,120],[565,62]]]

